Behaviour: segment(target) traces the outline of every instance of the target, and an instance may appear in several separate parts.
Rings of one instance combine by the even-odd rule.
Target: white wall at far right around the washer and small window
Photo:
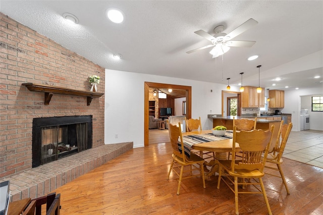
[[[292,114],[293,131],[300,131],[300,110],[301,108],[308,109],[310,115],[310,129],[323,131],[323,112],[311,112],[308,98],[311,95],[323,95],[323,89],[308,88],[298,90],[285,90],[285,107],[282,110],[283,114]],[[303,96],[305,96],[303,98]],[[302,98],[302,99],[301,99]],[[303,100],[301,104],[301,100]],[[309,101],[310,102],[310,101]]]

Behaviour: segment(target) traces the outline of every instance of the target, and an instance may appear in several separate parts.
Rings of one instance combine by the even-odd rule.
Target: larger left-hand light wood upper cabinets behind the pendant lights
[[[244,86],[244,91],[241,93],[241,108],[259,107],[264,107],[264,88],[261,93],[257,93],[257,87]]]

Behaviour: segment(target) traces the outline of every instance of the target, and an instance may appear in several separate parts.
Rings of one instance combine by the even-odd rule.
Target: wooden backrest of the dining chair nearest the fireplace
[[[184,153],[184,145],[183,145],[183,136],[181,131],[181,123],[178,123],[178,126],[168,123],[168,132],[170,135],[170,140],[172,144],[173,154],[183,158],[185,162],[185,153]],[[180,141],[178,141],[180,137]],[[179,150],[181,147],[182,151]]]

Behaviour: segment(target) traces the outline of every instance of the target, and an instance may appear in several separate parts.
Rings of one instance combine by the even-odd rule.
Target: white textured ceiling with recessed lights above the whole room
[[[271,89],[322,87],[323,1],[4,1],[1,12],[66,48],[113,70]],[[105,10],[117,7],[123,24],[113,24]],[[70,25],[62,17],[79,19]],[[234,40],[254,40],[212,59],[210,44],[194,31],[229,33],[253,18],[258,24]],[[115,60],[114,53],[122,59]],[[246,59],[259,54],[255,61]],[[319,79],[313,79],[320,75]],[[282,81],[272,86],[274,78]],[[320,82],[320,83],[319,83]]]

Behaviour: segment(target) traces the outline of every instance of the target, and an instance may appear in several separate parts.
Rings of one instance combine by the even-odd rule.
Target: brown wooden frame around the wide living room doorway
[[[192,87],[175,85],[175,84],[163,84],[154,82],[145,82],[144,87],[144,146],[149,145],[149,88],[170,88],[180,89],[186,91],[186,117],[191,119],[191,104],[192,104]]]

